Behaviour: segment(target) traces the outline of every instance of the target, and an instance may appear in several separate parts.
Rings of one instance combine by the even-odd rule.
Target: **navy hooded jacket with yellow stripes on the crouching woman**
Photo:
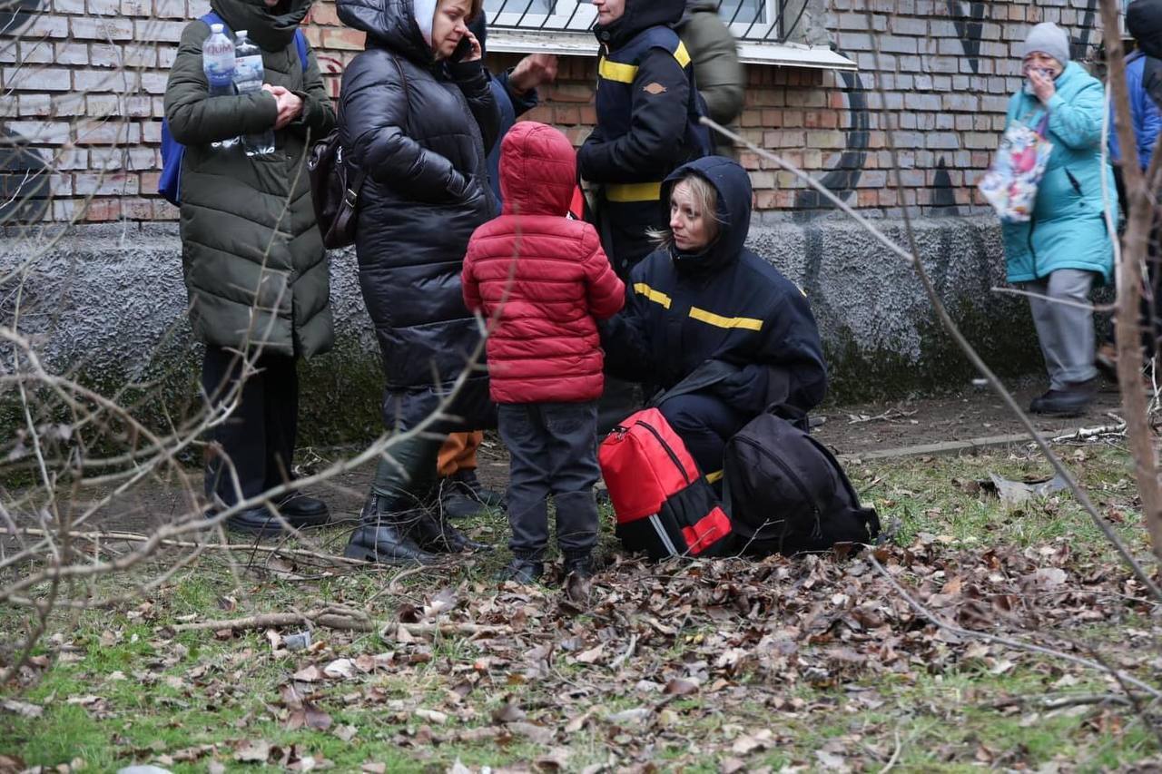
[[[718,191],[718,238],[697,255],[655,251],[633,270],[625,309],[602,329],[605,370],[664,389],[681,382],[745,414],[805,414],[827,390],[819,329],[802,291],[743,246],[749,178],[731,159],[705,157],[667,178],[665,201],[688,171]]]

